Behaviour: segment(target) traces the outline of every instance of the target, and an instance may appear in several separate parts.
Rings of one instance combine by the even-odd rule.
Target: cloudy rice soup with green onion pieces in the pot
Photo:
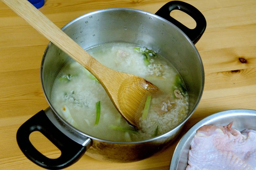
[[[161,55],[127,43],[106,43],[87,52],[113,70],[145,78],[162,93],[147,96],[140,128],[135,129],[118,113],[99,81],[80,64],[70,60],[54,81],[51,102],[75,128],[100,139],[140,141],[168,132],[187,116],[185,83]]]

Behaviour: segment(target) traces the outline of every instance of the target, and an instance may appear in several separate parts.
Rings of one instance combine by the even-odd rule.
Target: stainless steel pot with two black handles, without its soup
[[[174,9],[184,11],[194,18],[196,28],[190,30],[170,17],[170,11]],[[21,151],[39,166],[60,169],[76,162],[85,151],[90,157],[99,160],[130,162],[145,159],[169,146],[195,111],[202,96],[204,68],[193,42],[199,40],[205,27],[202,13],[180,1],[165,4],[156,14],[113,8],[94,11],[68,23],[62,30],[84,49],[106,42],[127,42],[146,46],[166,57],[186,82],[189,94],[188,116],[169,132],[138,142],[107,141],[75,129],[60,117],[51,104],[53,82],[70,57],[50,42],[41,65],[42,86],[50,107],[37,113],[19,128],[17,142]],[[60,149],[59,158],[48,159],[34,148],[28,137],[35,130],[44,134]]]

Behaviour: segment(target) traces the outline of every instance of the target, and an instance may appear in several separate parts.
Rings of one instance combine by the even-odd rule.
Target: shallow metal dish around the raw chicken
[[[172,156],[170,170],[184,170],[188,165],[188,151],[190,149],[190,143],[195,136],[197,129],[205,124],[224,126],[230,122],[233,122],[232,128],[235,128],[239,131],[242,131],[244,129],[256,129],[256,110],[226,110],[212,114],[197,122],[180,139],[180,142],[176,146]]]

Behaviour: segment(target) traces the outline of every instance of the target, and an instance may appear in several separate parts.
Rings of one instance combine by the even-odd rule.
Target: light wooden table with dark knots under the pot
[[[155,13],[166,0],[46,0],[40,11],[62,27],[85,13],[125,7]],[[227,109],[256,109],[256,1],[186,0],[205,16],[207,28],[196,43],[205,70],[205,86],[184,132],[163,152],[133,163],[108,163],[84,155],[67,169],[168,169],[180,137],[197,121]],[[181,12],[172,16],[195,26]],[[43,169],[28,160],[16,143],[20,125],[48,107],[40,82],[40,63],[48,40],[0,3],[0,169]],[[194,24],[194,25],[193,25]],[[40,133],[31,141],[50,158],[60,151]]]

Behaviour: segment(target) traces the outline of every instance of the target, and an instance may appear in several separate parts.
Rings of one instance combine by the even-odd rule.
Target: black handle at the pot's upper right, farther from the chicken
[[[191,16],[196,21],[196,28],[189,29],[176,19],[172,18],[170,16],[170,12],[173,10],[183,11]],[[168,2],[156,12],[156,15],[170,21],[172,24],[179,27],[194,44],[196,44],[196,42],[201,38],[206,28],[206,20],[204,15],[194,6],[182,1]]]

